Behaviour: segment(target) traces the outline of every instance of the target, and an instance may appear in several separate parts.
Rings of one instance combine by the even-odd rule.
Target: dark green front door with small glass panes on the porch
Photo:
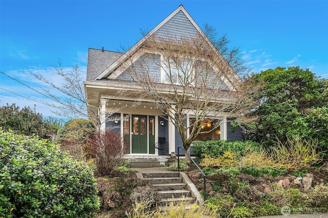
[[[132,115],[132,153],[148,154],[147,116]]]

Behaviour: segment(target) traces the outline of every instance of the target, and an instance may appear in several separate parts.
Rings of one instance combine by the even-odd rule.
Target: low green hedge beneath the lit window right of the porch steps
[[[260,145],[253,141],[197,141],[193,145],[193,152],[197,159],[200,161],[206,155],[212,158],[218,158],[224,152],[231,151],[237,157],[244,156],[248,153],[249,149],[259,150]]]

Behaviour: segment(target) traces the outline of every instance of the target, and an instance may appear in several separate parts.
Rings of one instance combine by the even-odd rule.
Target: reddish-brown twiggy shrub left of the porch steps
[[[90,139],[87,148],[91,157],[94,158],[98,173],[105,176],[111,174],[115,167],[119,166],[126,151],[126,143],[122,146],[119,132],[98,131]]]

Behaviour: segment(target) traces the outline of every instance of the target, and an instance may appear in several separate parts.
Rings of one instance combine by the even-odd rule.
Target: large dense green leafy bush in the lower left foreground
[[[93,217],[99,207],[87,164],[57,144],[0,128],[0,217]]]

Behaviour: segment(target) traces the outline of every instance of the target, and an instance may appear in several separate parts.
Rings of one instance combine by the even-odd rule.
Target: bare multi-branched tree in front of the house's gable
[[[213,131],[224,118],[251,121],[245,114],[257,104],[252,99],[256,87],[239,78],[204,35],[152,35],[134,55],[124,66],[127,82],[132,84],[123,94],[155,100],[178,130],[186,150],[196,136]],[[158,69],[161,74],[156,74]],[[189,126],[184,123],[188,117],[193,118]],[[211,128],[204,131],[204,125]]]

